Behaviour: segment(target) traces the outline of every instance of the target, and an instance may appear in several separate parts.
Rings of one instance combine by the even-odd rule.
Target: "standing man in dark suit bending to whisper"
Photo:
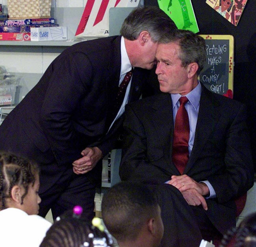
[[[0,149],[41,167],[41,216],[51,208],[56,218],[81,205],[93,217],[101,159],[115,147],[124,105],[141,96],[158,40],[174,28],[158,7],[136,8],[123,23],[122,36],[80,42],[62,52],[4,120]],[[113,113],[119,85],[132,68]]]

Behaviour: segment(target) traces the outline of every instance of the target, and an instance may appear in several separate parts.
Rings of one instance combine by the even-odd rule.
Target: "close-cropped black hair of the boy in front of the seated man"
[[[115,184],[104,194],[101,205],[104,224],[117,241],[135,240],[158,208],[147,186],[135,182]]]

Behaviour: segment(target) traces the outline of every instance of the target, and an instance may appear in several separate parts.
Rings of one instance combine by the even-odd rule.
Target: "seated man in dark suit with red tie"
[[[234,199],[253,185],[245,106],[198,82],[205,54],[204,39],[193,32],[166,35],[156,52],[164,93],[126,105],[120,177],[155,191],[165,228],[162,246],[221,238],[236,225]],[[174,131],[185,98],[186,144]]]

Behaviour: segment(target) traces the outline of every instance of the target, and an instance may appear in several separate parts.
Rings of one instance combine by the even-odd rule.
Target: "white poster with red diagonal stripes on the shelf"
[[[111,7],[137,7],[139,0],[87,0],[75,38],[108,37],[109,9]]]

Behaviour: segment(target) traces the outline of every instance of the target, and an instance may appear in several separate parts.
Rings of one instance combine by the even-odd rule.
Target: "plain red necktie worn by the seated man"
[[[188,99],[186,96],[180,97],[180,107],[176,114],[174,133],[173,133],[173,162],[183,174],[189,159],[189,119],[185,104]]]

